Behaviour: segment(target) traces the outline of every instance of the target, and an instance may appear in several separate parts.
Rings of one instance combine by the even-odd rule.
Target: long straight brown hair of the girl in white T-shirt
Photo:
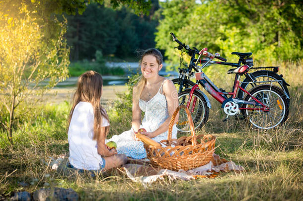
[[[78,78],[77,89],[73,97],[74,103],[69,116],[68,129],[70,127],[72,116],[76,105],[80,101],[89,102],[91,103],[94,110],[93,139],[99,140],[101,134],[104,134],[104,137],[107,136],[109,132],[109,126],[101,127],[102,118],[105,118],[108,121],[107,113],[101,107],[101,103],[100,103],[101,95],[102,95],[102,86],[103,86],[103,79],[98,72],[90,70],[84,72]]]

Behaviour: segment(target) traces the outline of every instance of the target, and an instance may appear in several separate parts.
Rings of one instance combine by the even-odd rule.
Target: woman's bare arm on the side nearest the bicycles
[[[177,107],[179,105],[178,104],[178,92],[177,92],[176,87],[173,85],[171,80],[169,80],[169,81],[165,80],[164,83],[163,83],[163,88],[162,89],[163,89],[163,94],[166,97],[167,109],[168,109],[169,116],[165,120],[165,122],[163,122],[163,124],[161,124],[159,126],[159,128],[157,130],[155,130],[154,132],[142,133],[142,134],[146,134],[150,138],[153,138],[153,137],[155,137],[159,134],[162,134],[162,133],[164,133],[168,130],[171,116],[175,112],[175,110],[177,109]],[[179,114],[177,114],[174,123],[178,122],[178,118],[179,118]]]

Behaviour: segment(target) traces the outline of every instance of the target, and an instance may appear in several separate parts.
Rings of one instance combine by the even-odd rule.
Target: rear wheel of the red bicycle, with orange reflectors
[[[249,92],[253,97],[258,99],[264,105],[269,107],[269,111],[262,110],[242,110],[244,117],[258,129],[273,129],[282,125],[288,117],[289,105],[284,92],[275,85],[259,85]],[[254,101],[251,96],[247,94],[245,101]],[[243,104],[245,108],[252,108],[255,106]],[[262,108],[256,106],[256,108]]]

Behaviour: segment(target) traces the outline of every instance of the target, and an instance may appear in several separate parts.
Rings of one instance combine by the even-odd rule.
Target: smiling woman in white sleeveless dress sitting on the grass
[[[158,74],[162,68],[162,55],[156,49],[148,49],[140,60],[142,77],[134,86],[132,129],[114,135],[107,141],[117,143],[118,153],[140,159],[146,157],[143,142],[135,139],[140,128],[146,129],[146,136],[159,142],[167,139],[168,126],[173,112],[178,107],[178,92],[172,81]],[[141,121],[141,113],[144,119]],[[178,121],[178,116],[175,123]],[[177,128],[172,129],[172,138],[177,136]]]

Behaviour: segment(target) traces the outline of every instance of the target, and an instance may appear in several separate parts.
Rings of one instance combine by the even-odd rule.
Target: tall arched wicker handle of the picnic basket
[[[176,109],[176,111],[172,114],[171,116],[171,119],[170,119],[170,122],[169,122],[169,126],[168,126],[168,134],[167,134],[167,141],[169,143],[171,143],[171,133],[172,133],[172,127],[174,125],[174,121],[176,119],[176,116],[179,112],[179,110],[181,108],[184,108],[185,111],[186,111],[186,114],[187,114],[187,118],[188,118],[188,121],[189,121],[189,127],[190,127],[190,133],[192,135],[192,145],[193,146],[196,146],[197,145],[197,139],[196,139],[196,134],[195,134],[195,130],[194,130],[194,123],[193,123],[193,119],[191,117],[191,114],[190,112],[188,111],[188,109],[185,107],[185,105],[179,105]]]

